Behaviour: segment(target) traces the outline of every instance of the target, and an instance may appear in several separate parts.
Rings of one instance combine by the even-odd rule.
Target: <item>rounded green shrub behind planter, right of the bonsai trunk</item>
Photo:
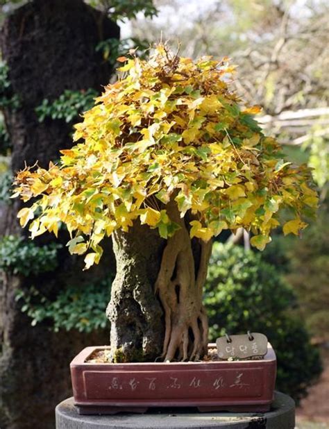
[[[296,305],[292,287],[260,253],[214,243],[205,285],[212,341],[247,330],[267,335],[278,357],[277,389],[298,401],[321,373],[321,362],[303,323],[289,312]]]

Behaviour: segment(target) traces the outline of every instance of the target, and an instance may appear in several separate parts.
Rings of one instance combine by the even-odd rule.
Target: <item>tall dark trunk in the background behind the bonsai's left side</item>
[[[24,161],[33,165],[39,160],[47,166],[49,160],[58,159],[59,149],[71,146],[71,125],[51,119],[40,123],[35,108],[65,90],[101,90],[111,70],[95,47],[109,37],[119,37],[119,27],[82,0],[35,0],[6,19],[2,56],[9,66],[12,91],[21,103],[17,111],[5,112],[14,173],[24,167]],[[15,201],[1,207],[0,235],[23,233],[16,219],[21,206]],[[108,343],[106,333],[55,334],[44,324],[33,328],[15,301],[15,291],[33,282],[56,294],[69,282],[104,276],[109,260],[110,255],[104,255],[101,266],[82,274],[82,261],[69,257],[64,249],[58,272],[37,278],[6,275],[0,280],[1,428],[53,428],[56,403],[71,394],[71,357],[88,344]]]

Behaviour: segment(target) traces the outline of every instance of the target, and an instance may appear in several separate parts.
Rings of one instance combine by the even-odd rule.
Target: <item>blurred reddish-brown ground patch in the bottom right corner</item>
[[[296,428],[329,428],[329,348],[323,348],[323,373],[316,385],[309,390],[307,398],[301,401],[296,410]],[[314,426],[305,426],[305,423],[323,423]]]

